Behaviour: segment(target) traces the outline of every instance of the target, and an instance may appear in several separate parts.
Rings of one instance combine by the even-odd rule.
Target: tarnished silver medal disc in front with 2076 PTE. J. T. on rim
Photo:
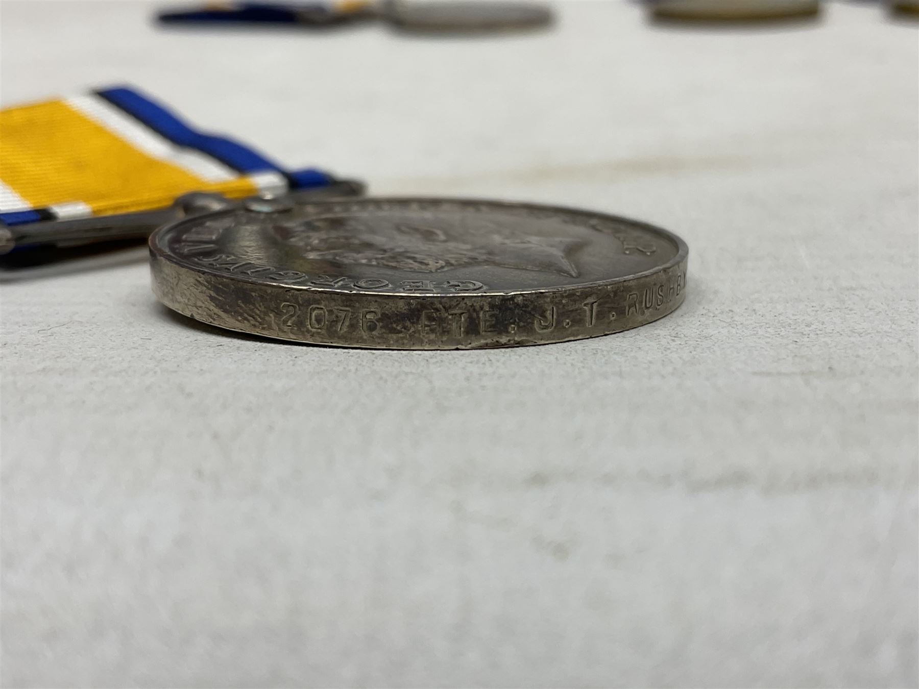
[[[686,296],[686,243],[584,210],[441,198],[249,202],[150,238],[153,291],[221,328],[470,349],[594,337]]]

